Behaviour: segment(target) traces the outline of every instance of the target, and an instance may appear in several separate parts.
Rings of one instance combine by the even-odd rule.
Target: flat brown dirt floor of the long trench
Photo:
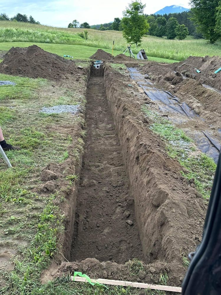
[[[90,77],[87,101],[87,139],[70,261],[144,260],[133,198],[104,94],[103,77]],[[133,224],[128,224],[128,220]]]

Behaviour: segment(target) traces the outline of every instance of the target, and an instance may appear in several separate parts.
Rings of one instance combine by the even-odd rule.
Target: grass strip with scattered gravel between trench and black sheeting
[[[166,142],[168,155],[176,158],[186,169],[185,172],[181,171],[182,175],[193,181],[204,198],[209,198],[216,170],[214,160],[201,151],[196,153],[197,147],[192,139],[158,112],[150,110],[146,105],[142,107],[142,111],[152,120],[150,129]]]

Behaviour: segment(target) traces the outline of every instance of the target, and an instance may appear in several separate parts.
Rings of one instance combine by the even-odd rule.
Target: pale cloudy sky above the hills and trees
[[[73,19],[90,25],[111,22],[115,17],[122,17],[122,11],[129,0],[8,0],[0,2],[0,13],[9,17],[17,12],[32,15],[41,24],[55,27],[67,27]],[[146,4],[145,13],[151,14],[170,5],[179,5],[189,8],[189,0],[156,0],[142,1]]]

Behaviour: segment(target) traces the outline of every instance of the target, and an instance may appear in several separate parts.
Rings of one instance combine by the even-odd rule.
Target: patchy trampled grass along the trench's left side
[[[52,294],[50,288],[41,285],[39,276],[59,250],[58,239],[64,232],[64,215],[54,201],[64,200],[64,186],[47,196],[34,193],[33,189],[39,191],[42,185],[40,175],[43,167],[50,162],[60,163],[69,156],[68,147],[72,138],[64,131],[55,131],[57,126],[63,126],[64,120],[70,126],[75,122],[83,123],[83,120],[77,116],[73,119],[71,114],[44,117],[39,109],[49,101],[56,103],[56,99],[60,98],[62,102],[71,97],[84,107],[85,98],[76,89],[69,91],[65,87],[51,93],[51,83],[44,79],[8,75],[1,75],[0,79],[17,83],[17,86],[12,86],[14,89],[17,87],[16,91],[11,86],[0,89],[4,89],[0,92],[0,124],[7,142],[22,147],[19,151],[7,152],[13,168],[7,169],[4,163],[0,165],[0,246],[17,250],[11,258],[14,270],[0,271],[7,282],[0,293],[42,294],[42,288],[45,289],[44,294]],[[79,155],[82,141],[78,140],[74,148]],[[65,179],[64,174],[67,187],[70,182],[74,186],[76,179],[74,175]],[[55,289],[62,290],[62,286],[56,285]]]

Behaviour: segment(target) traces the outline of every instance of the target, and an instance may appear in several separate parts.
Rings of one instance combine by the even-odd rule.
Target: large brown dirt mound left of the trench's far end
[[[65,60],[37,45],[12,47],[0,64],[0,73],[49,80],[60,79],[63,75],[73,74],[75,71],[77,66],[72,60]]]

